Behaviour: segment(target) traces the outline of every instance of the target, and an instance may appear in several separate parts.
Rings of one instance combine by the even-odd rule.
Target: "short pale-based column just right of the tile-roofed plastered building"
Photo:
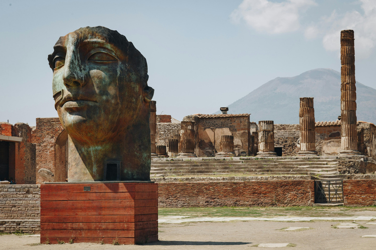
[[[274,152],[274,121],[258,122],[258,150],[259,156],[277,156]]]

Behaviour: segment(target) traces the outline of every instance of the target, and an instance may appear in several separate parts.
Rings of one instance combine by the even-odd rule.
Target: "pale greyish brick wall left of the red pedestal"
[[[40,186],[0,185],[0,232],[40,231]]]

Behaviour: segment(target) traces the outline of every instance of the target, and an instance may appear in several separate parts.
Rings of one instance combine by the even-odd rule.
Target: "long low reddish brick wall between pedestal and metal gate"
[[[159,183],[160,208],[311,206],[314,181]]]

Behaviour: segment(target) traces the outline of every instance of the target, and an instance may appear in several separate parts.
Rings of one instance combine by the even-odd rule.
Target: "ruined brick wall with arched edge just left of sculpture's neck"
[[[37,118],[33,140],[36,144],[36,172],[40,168],[47,168],[55,173],[55,142],[64,130],[59,118]],[[43,179],[36,175],[36,183],[43,183]]]

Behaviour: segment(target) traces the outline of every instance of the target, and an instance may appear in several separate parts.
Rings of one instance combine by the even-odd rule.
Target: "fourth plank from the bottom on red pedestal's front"
[[[140,215],[136,215],[140,216]],[[143,219],[145,221],[151,220],[158,220],[158,215],[143,215],[145,216]],[[61,215],[61,216],[41,216],[41,225],[43,223],[112,223],[112,222],[119,222],[119,223],[127,223],[127,222],[135,222],[135,215],[81,215],[81,216],[71,216],[71,215]]]

